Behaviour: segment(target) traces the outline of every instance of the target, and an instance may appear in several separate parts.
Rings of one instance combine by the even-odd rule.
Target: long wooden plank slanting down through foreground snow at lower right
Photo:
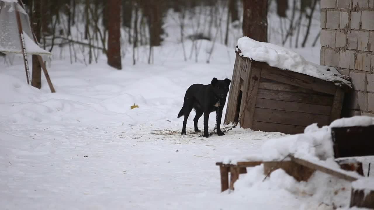
[[[349,182],[353,182],[353,181],[358,179],[357,177],[351,176],[348,173],[344,173],[343,169],[341,169],[341,172],[338,171],[338,170],[335,170],[335,169],[329,169],[329,168],[324,167],[320,164],[312,163],[312,162],[309,162],[309,161],[301,159],[301,158],[293,157],[292,155],[291,155],[291,161],[294,161],[295,163],[298,163],[302,166],[306,166],[310,169],[319,170],[319,171],[327,173],[329,175],[336,176],[340,179],[344,179],[344,180],[347,180]]]

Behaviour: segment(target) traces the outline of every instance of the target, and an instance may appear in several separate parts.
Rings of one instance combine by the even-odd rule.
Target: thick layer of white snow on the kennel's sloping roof
[[[239,49],[238,49],[239,48]],[[271,67],[306,74],[325,81],[330,81],[337,86],[347,85],[352,87],[350,81],[341,75],[334,67],[321,66],[306,61],[298,53],[275,44],[260,42],[249,37],[237,40],[236,52],[251,60],[266,62]]]

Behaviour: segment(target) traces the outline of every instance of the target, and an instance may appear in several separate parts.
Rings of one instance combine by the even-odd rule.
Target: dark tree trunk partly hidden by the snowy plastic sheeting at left
[[[41,20],[41,0],[33,0],[33,12],[31,13],[31,26],[35,34],[36,40],[40,42],[42,33],[42,20]],[[32,38],[32,37],[31,37]],[[33,73],[31,78],[31,85],[36,88],[42,87],[42,67],[40,66],[37,55],[32,56],[33,59]]]

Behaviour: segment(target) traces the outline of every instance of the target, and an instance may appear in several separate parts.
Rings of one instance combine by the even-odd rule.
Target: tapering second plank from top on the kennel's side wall
[[[291,84],[280,83],[274,80],[269,80],[266,78],[260,78],[260,86],[261,89],[267,90],[282,90],[288,92],[297,92],[297,93],[308,93],[308,94],[315,94],[315,95],[327,95],[326,93],[316,92],[313,90],[305,89],[303,87],[294,86]]]

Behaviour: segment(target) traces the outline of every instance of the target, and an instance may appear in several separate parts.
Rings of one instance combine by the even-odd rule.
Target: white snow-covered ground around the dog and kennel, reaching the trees
[[[313,24],[318,30],[319,20]],[[256,154],[285,134],[236,128],[200,138],[191,113],[181,136],[177,114],[186,89],[231,79],[235,53],[234,46],[199,40],[195,62],[187,40],[184,61],[178,26],[166,27],[169,37],[154,48],[154,64],[140,47],[132,65],[126,48],[121,71],[108,67],[105,56],[97,64],[86,66],[83,58],[70,64],[67,47],[55,47],[47,68],[56,93],[44,76],[41,90],[28,86],[22,59],[9,65],[0,57],[0,209],[327,210],[349,203],[347,182],[316,173],[297,183],[282,170],[263,182],[262,166],[240,175],[235,191],[221,193],[215,162]],[[320,46],[293,50],[319,64]],[[139,108],[130,109],[134,103]],[[210,131],[214,119],[211,113]],[[366,172],[369,159],[360,160]]]

